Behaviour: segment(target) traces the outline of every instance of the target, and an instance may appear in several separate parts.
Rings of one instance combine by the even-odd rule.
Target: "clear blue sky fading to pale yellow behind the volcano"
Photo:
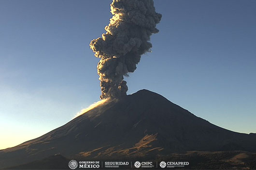
[[[0,0],[0,149],[69,122],[100,100],[112,0]],[[256,133],[256,0],[155,0],[162,20],[128,94],[157,92],[222,128]]]

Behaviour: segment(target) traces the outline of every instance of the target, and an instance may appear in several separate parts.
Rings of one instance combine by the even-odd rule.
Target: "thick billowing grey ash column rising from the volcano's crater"
[[[134,72],[141,55],[150,51],[149,42],[162,15],[156,13],[153,0],[113,0],[114,15],[105,27],[102,38],[93,39],[90,48],[100,58],[100,99],[126,95],[128,87],[124,76]]]

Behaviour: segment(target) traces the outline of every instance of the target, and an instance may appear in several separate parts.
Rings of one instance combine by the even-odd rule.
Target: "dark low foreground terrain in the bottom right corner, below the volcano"
[[[242,151],[189,151],[183,154],[171,154],[158,160],[188,161],[189,166],[185,166],[184,169],[256,170],[256,153]]]

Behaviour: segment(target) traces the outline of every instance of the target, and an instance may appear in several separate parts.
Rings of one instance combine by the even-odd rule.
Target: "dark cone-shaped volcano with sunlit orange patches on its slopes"
[[[228,131],[141,90],[110,100],[45,135],[0,150],[0,168],[61,154],[96,159],[183,151],[256,151],[256,134]]]

